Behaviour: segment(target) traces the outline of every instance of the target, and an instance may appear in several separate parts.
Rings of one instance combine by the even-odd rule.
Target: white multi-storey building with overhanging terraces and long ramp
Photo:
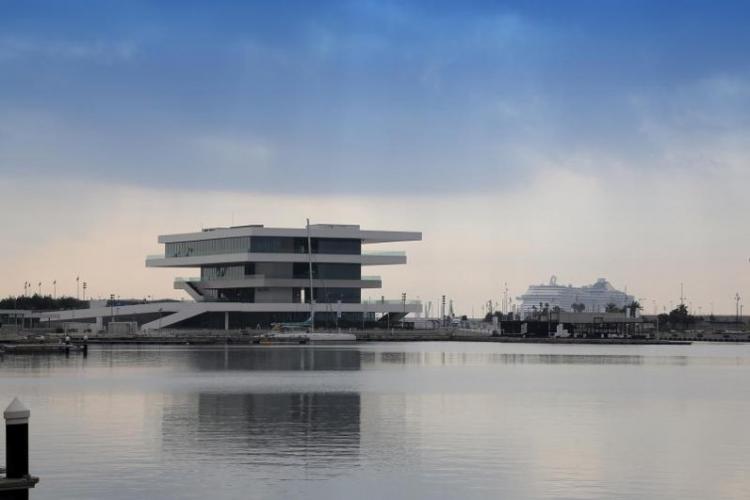
[[[190,300],[92,304],[90,309],[39,313],[39,322],[92,321],[101,328],[111,321],[137,321],[142,330],[229,329],[305,321],[311,312],[318,325],[397,321],[421,312],[421,303],[363,301],[362,290],[380,288],[382,281],[362,269],[405,264],[406,254],[369,252],[363,247],[421,239],[419,232],[371,231],[341,224],[248,225],[162,235],[158,240],[164,253],[147,257],[146,266],[195,270],[195,276],[174,281],[174,287]]]

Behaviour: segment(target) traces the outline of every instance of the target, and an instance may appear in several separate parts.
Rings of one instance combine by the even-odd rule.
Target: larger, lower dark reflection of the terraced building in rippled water
[[[335,475],[358,464],[359,393],[198,393],[172,399],[164,408],[162,447],[175,460],[246,464],[253,475],[279,478],[290,470]]]

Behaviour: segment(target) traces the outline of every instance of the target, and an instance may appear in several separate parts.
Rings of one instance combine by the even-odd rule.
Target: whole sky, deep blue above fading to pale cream
[[[0,0],[0,296],[181,297],[159,234],[422,231],[373,292],[750,294],[746,2]],[[700,308],[700,309],[699,309]]]

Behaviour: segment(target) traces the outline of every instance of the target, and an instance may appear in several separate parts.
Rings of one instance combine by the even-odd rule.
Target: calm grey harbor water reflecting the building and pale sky
[[[93,347],[16,395],[33,499],[750,498],[748,344]]]

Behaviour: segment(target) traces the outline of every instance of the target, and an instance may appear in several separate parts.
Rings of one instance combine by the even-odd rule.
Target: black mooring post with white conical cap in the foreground
[[[14,398],[5,417],[5,478],[0,479],[0,499],[28,500],[29,488],[39,481],[29,475],[29,417],[31,412]]]

